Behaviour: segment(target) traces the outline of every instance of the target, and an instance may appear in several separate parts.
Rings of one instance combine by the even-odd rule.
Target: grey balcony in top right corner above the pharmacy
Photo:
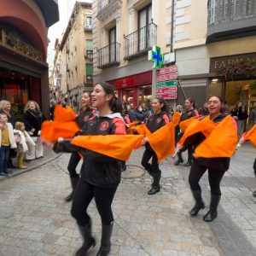
[[[207,43],[255,34],[255,0],[209,1]]]

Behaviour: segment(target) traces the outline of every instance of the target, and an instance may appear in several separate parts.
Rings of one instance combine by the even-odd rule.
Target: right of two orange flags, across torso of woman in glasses
[[[236,151],[236,122],[228,115],[212,131],[212,133],[195,148],[195,157],[231,157]]]

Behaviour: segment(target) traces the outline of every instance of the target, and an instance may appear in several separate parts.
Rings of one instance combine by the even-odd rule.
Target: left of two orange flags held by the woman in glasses
[[[191,136],[194,135],[197,132],[202,132],[205,137],[209,137],[209,135],[212,133],[213,129],[217,126],[218,124],[215,124],[212,122],[209,116],[206,118],[199,120],[199,119],[193,119],[189,123],[188,128],[183,134],[183,137],[179,140],[178,144],[183,145],[185,140]]]

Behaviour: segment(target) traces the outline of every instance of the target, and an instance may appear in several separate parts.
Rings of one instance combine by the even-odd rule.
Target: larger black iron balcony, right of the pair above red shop
[[[148,50],[156,44],[157,26],[151,22],[136,32],[125,36],[125,57],[130,61],[141,55],[148,54]]]

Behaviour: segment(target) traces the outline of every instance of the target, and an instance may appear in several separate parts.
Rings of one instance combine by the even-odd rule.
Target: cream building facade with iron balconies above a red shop
[[[148,50],[170,51],[168,1],[98,0],[93,3],[94,79],[113,84],[123,102],[149,106],[155,86]]]

